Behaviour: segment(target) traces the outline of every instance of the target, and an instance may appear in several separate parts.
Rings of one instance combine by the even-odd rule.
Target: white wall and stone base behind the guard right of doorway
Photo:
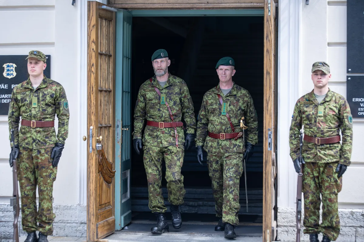
[[[330,65],[329,87],[346,97],[346,5],[343,0],[310,0],[309,5],[305,0],[279,1],[278,240],[281,241],[296,238],[297,175],[289,156],[288,135],[294,104],[313,89],[310,76],[313,62],[325,61]],[[343,176],[343,189],[339,193],[341,231],[337,241],[364,241],[363,136],[364,119],[354,118],[352,164]],[[302,234],[301,238],[308,240],[307,235]]]

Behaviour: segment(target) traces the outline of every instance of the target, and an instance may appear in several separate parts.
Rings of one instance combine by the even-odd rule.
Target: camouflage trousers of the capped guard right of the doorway
[[[342,177],[335,172],[338,162],[306,162],[303,168],[303,195],[305,234],[322,232],[335,241],[340,232],[337,195],[341,191]],[[322,197],[322,223],[320,221],[320,194]]]

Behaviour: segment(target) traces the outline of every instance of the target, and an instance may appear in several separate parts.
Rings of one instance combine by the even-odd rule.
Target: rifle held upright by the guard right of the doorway
[[[301,172],[298,173],[297,177],[297,197],[296,197],[296,223],[297,223],[297,233],[296,233],[296,242],[301,241],[301,212],[302,212],[302,130],[300,130],[300,157],[298,158]]]

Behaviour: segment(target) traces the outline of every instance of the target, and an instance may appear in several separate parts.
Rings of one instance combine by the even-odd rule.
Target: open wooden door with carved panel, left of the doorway
[[[115,231],[115,12],[87,1],[87,241]]]

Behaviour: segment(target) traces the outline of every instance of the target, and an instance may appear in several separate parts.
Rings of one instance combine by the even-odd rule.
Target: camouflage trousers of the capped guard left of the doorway
[[[52,166],[52,149],[31,149],[20,146],[17,174],[21,196],[21,222],[23,230],[27,233],[39,231],[44,235],[53,234],[53,221],[56,215],[53,213],[52,193],[57,167]]]

